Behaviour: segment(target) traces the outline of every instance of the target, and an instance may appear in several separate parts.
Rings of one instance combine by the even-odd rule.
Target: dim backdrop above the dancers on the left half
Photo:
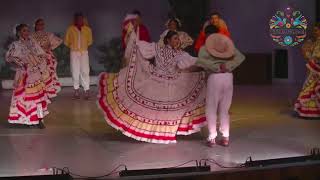
[[[63,34],[72,21],[75,11],[82,11],[88,16],[94,35],[94,46],[90,50],[92,69],[104,70],[104,64],[99,64],[104,53],[101,46],[110,46],[109,40],[118,42],[121,22],[127,12],[138,9],[142,12],[145,24],[148,26],[152,39],[157,41],[164,30],[169,11],[167,0],[2,0],[0,5],[0,66],[4,62],[4,48],[8,36],[12,35],[15,24],[24,22],[30,25],[38,17],[46,20],[47,30]],[[113,49],[112,49],[113,48]],[[116,47],[111,47],[114,51]],[[102,47],[103,49],[103,47]],[[63,50],[62,50],[63,51]],[[65,54],[58,52],[61,58]],[[61,67],[63,68],[63,67]],[[60,68],[60,70],[61,70]],[[69,70],[65,70],[68,73]]]

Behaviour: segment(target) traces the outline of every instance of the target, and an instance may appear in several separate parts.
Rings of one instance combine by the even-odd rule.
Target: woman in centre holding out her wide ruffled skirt
[[[105,120],[139,141],[175,143],[176,135],[198,132],[206,122],[204,72],[177,67],[194,58],[180,50],[177,32],[169,31],[164,41],[164,47],[140,41],[133,31],[125,53],[129,65],[100,75],[98,105]]]

